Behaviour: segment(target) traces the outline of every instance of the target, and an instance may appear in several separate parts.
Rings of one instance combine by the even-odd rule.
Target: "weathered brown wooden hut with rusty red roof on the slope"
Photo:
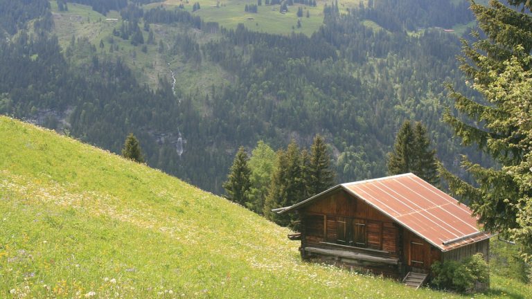
[[[419,286],[436,261],[489,254],[490,233],[468,206],[414,174],[344,183],[276,209],[298,212],[303,259],[342,264]],[[414,283],[415,282],[415,283]]]

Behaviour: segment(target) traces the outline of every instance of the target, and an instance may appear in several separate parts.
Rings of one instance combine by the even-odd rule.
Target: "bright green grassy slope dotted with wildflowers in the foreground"
[[[457,297],[302,262],[245,208],[3,116],[0,156],[0,298]],[[479,298],[532,293],[492,285]]]

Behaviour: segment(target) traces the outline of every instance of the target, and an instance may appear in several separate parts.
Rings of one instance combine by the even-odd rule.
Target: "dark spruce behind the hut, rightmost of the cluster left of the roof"
[[[308,196],[327,190],[335,184],[335,172],[330,166],[330,156],[323,137],[314,137],[310,147],[310,163],[308,165],[308,181],[305,182]]]

